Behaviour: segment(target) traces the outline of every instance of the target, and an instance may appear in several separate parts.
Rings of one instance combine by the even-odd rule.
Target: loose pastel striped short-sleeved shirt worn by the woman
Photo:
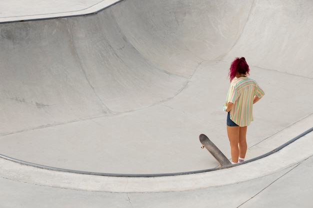
[[[257,83],[248,77],[234,78],[228,89],[226,102],[233,103],[230,110],[230,119],[240,127],[248,126],[253,121],[253,97],[262,97],[263,90]]]

